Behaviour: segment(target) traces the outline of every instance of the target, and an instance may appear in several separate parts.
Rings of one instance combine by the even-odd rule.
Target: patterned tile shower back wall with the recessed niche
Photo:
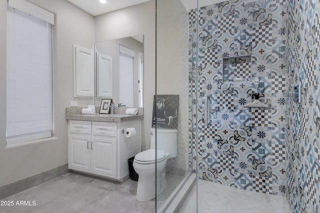
[[[231,0],[189,11],[189,168],[206,181],[285,196],[286,2],[252,5]],[[268,108],[244,107],[252,93]]]

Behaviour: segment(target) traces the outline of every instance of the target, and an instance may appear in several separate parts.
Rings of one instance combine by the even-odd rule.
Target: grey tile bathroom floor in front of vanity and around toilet
[[[157,198],[160,207],[183,177],[167,174],[167,185]],[[137,182],[110,182],[79,173],[67,173],[2,201],[35,201],[36,206],[3,207],[0,213],[154,213],[154,199],[135,199]]]

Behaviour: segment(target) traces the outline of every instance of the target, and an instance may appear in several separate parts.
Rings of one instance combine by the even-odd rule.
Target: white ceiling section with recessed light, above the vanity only
[[[149,0],[106,0],[106,3],[100,3],[99,0],[68,0],[76,6],[91,15],[100,15],[106,12],[114,11],[124,7],[143,3]]]

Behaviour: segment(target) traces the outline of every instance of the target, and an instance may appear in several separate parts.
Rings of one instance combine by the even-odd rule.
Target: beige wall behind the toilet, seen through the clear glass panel
[[[188,13],[180,0],[157,1],[156,92],[179,95],[178,156],[170,172],[188,170]]]

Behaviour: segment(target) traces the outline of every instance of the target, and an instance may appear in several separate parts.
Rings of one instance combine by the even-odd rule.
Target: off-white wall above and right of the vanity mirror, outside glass
[[[155,1],[119,9],[95,17],[95,41],[144,35],[142,144],[150,141],[153,95],[155,94]],[[143,137],[144,135],[144,137]],[[149,143],[143,146],[149,149]]]

